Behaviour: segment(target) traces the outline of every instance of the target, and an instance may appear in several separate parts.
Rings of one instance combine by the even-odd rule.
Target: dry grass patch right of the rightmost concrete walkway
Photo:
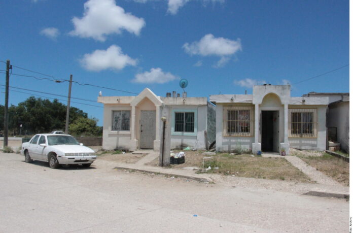
[[[327,153],[322,153],[321,156],[299,156],[311,167],[316,168],[317,171],[320,171],[326,174],[329,177],[332,177],[334,180],[339,183],[349,186],[349,163],[332,156]]]

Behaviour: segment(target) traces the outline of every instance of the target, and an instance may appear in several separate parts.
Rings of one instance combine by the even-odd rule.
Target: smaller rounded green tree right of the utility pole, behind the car
[[[97,136],[100,134],[100,127],[97,126],[97,119],[79,117],[69,124],[68,131],[76,136]]]

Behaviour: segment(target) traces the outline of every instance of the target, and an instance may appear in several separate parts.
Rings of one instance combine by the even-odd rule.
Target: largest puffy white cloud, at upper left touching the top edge
[[[143,18],[137,18],[116,5],[115,0],[88,0],[84,4],[82,18],[72,19],[75,29],[70,35],[105,41],[107,35],[121,34],[123,29],[139,35],[146,25]]]

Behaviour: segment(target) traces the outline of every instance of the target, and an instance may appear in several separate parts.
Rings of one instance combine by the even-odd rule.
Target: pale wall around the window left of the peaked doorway
[[[131,121],[130,131],[112,131],[112,113],[115,110],[131,110],[129,105],[104,105],[103,110],[103,143],[104,150],[131,149]]]

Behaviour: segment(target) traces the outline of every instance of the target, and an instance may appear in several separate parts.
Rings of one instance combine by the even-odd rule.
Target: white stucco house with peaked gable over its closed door
[[[214,116],[215,107],[206,97],[181,97],[173,91],[166,97],[157,96],[145,88],[137,96],[98,96],[104,104],[104,150],[136,149],[159,150],[161,111],[168,106],[171,126],[171,148],[190,146],[205,149],[208,140],[215,138],[215,124],[207,116]],[[213,114],[210,114],[212,113]],[[207,138],[207,137],[206,137]]]

